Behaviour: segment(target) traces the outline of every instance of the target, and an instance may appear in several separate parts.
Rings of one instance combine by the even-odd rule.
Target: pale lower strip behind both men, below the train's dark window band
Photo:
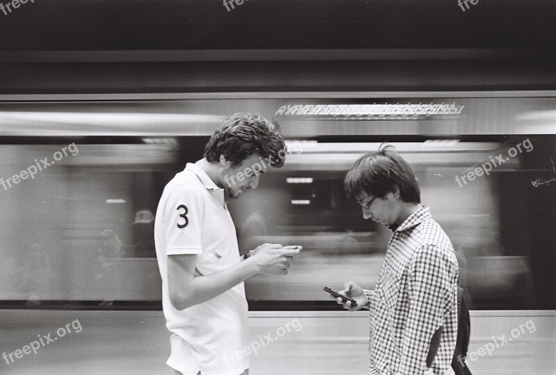
[[[505,317],[472,313],[470,351],[478,353],[475,360],[468,360],[473,374],[556,374],[553,312],[534,312],[536,316],[516,312]],[[49,342],[36,354],[31,351],[10,364],[0,358],[0,373],[173,374],[165,365],[170,335],[163,314],[158,311],[0,310],[0,353],[22,349],[48,333],[54,338],[58,328],[76,319],[79,324],[74,326],[81,326],[80,332],[72,328],[72,333]],[[534,325],[534,332],[525,328],[530,320],[529,327]],[[512,338],[512,329],[519,329],[520,325],[524,325],[523,333]],[[275,338],[259,353],[250,355],[252,375],[366,374],[366,313],[256,312],[250,313],[250,326],[253,341],[269,333]],[[493,342],[493,336],[502,335],[512,341],[494,349],[491,356],[479,356],[480,348]]]

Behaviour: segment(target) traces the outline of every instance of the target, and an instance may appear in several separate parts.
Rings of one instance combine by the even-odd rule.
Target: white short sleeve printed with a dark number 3
[[[203,193],[195,185],[182,183],[165,194],[166,255],[202,253]]]

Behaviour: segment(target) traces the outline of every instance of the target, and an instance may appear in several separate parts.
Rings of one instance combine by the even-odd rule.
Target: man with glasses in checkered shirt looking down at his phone
[[[393,231],[375,290],[349,282],[341,294],[357,306],[336,299],[346,310],[370,310],[368,374],[454,374],[458,265],[448,235],[420,204],[414,172],[385,147],[357,160],[345,176],[345,190],[362,206],[363,218]],[[439,328],[439,350],[427,367]]]

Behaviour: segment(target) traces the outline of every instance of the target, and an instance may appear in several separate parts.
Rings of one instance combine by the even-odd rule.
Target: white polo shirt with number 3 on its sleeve
[[[172,178],[162,193],[154,223],[162,306],[172,332],[166,364],[183,375],[238,375],[249,367],[238,356],[247,344],[247,300],[243,283],[185,310],[170,302],[167,257],[197,254],[197,275],[223,271],[238,263],[236,229],[224,201],[224,189],[197,165]]]

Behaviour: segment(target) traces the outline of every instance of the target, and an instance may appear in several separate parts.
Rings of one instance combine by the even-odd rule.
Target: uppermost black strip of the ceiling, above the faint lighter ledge
[[[228,11],[222,0],[35,0],[0,12],[0,51],[521,49],[554,56],[556,1],[474,1],[466,9],[457,0],[245,0]]]

